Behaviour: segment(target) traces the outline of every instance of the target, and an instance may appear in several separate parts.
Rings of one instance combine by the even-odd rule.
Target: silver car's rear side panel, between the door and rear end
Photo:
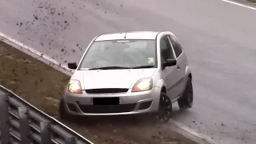
[[[179,96],[182,94],[186,86],[186,55],[184,54],[182,46],[179,44],[177,38],[173,35],[168,35],[168,38],[170,39],[170,43],[173,47],[174,55],[177,60],[176,70],[178,70],[178,73],[176,76],[178,78],[178,82],[175,84],[174,88],[177,96]]]

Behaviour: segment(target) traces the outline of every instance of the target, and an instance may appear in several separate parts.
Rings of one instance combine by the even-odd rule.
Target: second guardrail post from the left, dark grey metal
[[[21,144],[30,143],[30,123],[27,114],[26,107],[18,107],[18,117],[19,117],[19,126],[20,126],[20,134],[21,134]]]

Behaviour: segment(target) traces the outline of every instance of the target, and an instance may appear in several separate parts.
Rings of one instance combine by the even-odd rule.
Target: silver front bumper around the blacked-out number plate
[[[66,93],[63,97],[65,110],[75,115],[120,115],[142,114],[158,111],[161,89],[153,87],[152,90],[116,94],[82,94]],[[93,105],[92,98],[119,97],[119,105]]]

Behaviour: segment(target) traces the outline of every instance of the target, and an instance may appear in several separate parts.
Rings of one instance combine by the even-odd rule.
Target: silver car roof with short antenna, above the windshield
[[[101,34],[95,41],[125,40],[125,39],[155,39],[159,31],[129,31],[113,34]]]

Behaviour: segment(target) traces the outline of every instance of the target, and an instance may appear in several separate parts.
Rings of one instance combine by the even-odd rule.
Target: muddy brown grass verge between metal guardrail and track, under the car
[[[58,119],[58,100],[69,78],[0,42],[0,84],[54,118]],[[79,124],[63,123],[94,143],[196,144],[164,124],[127,120],[124,117],[94,118]]]

